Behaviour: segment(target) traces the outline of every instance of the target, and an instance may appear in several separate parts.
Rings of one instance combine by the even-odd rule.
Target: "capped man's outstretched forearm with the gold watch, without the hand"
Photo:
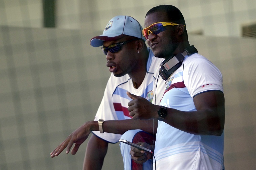
[[[153,128],[154,121],[154,128]],[[91,131],[99,131],[99,126],[97,121],[90,121]],[[109,120],[104,121],[103,131],[108,133],[123,134],[124,132],[132,129],[141,129],[145,132],[156,134],[157,131],[157,121],[156,120]]]

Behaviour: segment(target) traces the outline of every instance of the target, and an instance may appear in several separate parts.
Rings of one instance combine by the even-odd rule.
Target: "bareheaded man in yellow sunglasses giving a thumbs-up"
[[[128,103],[133,119],[158,120],[155,145],[138,144],[154,151],[154,169],[225,169],[221,72],[197,52],[187,53],[191,46],[185,20],[174,6],[160,5],[149,10],[142,33],[156,57],[184,58],[170,73],[160,105],[127,92],[133,99]],[[149,160],[135,147],[130,154],[137,163]]]

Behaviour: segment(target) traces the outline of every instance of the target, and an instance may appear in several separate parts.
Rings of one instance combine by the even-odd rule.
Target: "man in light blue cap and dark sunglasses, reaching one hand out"
[[[75,146],[71,154],[74,155],[91,131],[93,135],[87,145],[84,169],[101,169],[108,143],[117,143],[120,138],[133,143],[153,142],[157,122],[133,120],[127,110],[128,102],[131,100],[126,94],[127,91],[153,101],[153,86],[157,79],[154,77],[154,71],[158,70],[163,59],[154,57],[145,41],[141,25],[130,16],[116,16],[110,19],[103,34],[91,39],[93,47],[102,46],[101,49],[107,59],[106,66],[112,74],[94,121],[86,122],[69,135],[51,153],[51,157],[58,156],[65,147],[66,153],[69,153],[73,143]],[[158,97],[161,96],[159,93]],[[121,137],[128,130],[129,133]],[[120,144],[120,148],[122,153],[130,150],[130,146],[126,144]],[[148,154],[150,157],[150,153]],[[123,160],[124,169],[152,168],[149,161],[145,164],[136,164],[131,160],[130,154],[123,155]]]

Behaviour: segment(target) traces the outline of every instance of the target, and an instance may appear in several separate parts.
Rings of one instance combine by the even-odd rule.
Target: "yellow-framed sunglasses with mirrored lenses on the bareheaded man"
[[[155,24],[152,24],[151,26],[149,26],[148,28],[143,29],[142,30],[142,34],[143,34],[143,36],[146,39],[149,39],[150,32],[152,34],[157,35],[157,34],[159,34],[159,33],[161,33],[161,32],[166,30],[165,26],[175,26],[175,25],[179,25],[179,24],[164,23],[164,22],[162,22],[162,23],[155,23]],[[184,25],[184,27],[185,27],[185,25]]]

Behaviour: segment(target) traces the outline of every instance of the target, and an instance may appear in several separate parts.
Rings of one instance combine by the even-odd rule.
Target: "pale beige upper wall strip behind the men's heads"
[[[102,32],[116,15],[133,16],[143,26],[147,11],[161,4],[182,11],[189,33],[241,37],[242,26],[256,22],[255,0],[56,0],[56,27]],[[0,26],[42,28],[42,1],[0,0]]]

